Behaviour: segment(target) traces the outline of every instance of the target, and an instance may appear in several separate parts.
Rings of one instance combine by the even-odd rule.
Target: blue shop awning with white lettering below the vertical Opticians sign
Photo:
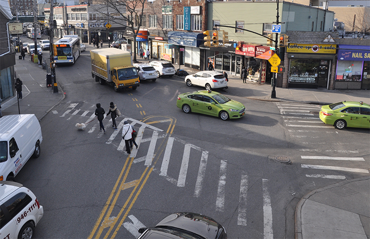
[[[168,43],[199,47],[203,41],[203,33],[187,31],[168,31]]]

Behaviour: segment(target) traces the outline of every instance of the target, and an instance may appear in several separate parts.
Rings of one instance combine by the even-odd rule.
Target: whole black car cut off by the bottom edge
[[[214,219],[197,213],[172,213],[154,227],[140,228],[137,239],[226,239],[225,228]]]

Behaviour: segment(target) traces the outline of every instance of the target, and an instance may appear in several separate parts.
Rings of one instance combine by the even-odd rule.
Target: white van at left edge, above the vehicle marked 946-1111
[[[41,126],[34,114],[0,118],[0,181],[13,181],[33,155],[40,155]]]

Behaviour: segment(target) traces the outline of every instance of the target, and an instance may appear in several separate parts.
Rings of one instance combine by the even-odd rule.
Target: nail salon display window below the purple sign
[[[338,60],[336,77],[338,81],[361,81],[362,61]]]

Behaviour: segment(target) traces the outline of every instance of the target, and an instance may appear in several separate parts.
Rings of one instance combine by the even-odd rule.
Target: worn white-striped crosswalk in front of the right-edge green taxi
[[[367,163],[363,157],[331,157],[322,154],[340,154],[340,155],[356,155],[359,151],[352,149],[352,144],[341,144],[339,142],[326,141],[322,138],[323,134],[333,136],[337,134],[334,126],[324,124],[318,117],[321,106],[315,104],[299,104],[278,102],[276,103],[285,126],[290,133],[290,137],[294,138],[295,142],[302,145],[308,145],[307,148],[300,148],[302,152],[308,152],[316,155],[301,155],[300,161],[301,168],[306,168],[307,171],[328,171],[338,172],[338,174],[325,174],[325,173],[306,173],[306,177],[314,178],[327,178],[327,179],[346,179],[340,172],[355,172],[361,173],[365,176],[369,173]],[[307,140],[307,139],[311,140]],[[313,139],[313,140],[312,140]],[[347,145],[351,149],[344,149]],[[321,154],[321,155],[320,155]],[[344,167],[338,166],[342,162],[351,162],[351,165],[359,167]],[[318,164],[312,164],[318,163]],[[362,168],[361,168],[362,167]]]

